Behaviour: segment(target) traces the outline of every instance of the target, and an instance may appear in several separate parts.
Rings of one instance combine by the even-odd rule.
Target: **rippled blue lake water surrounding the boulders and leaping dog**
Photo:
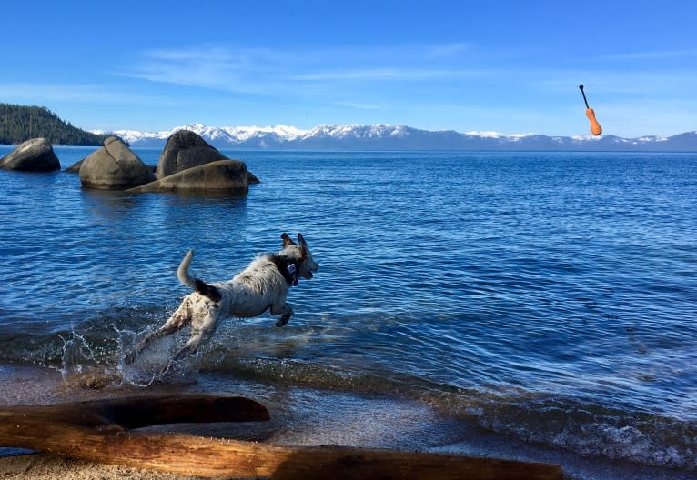
[[[189,248],[217,281],[302,232],[320,269],[290,324],[228,321],[201,375],[401,395],[526,444],[697,472],[697,155],[224,153],[261,180],[247,196],[0,171],[0,363],[117,370],[188,293]]]

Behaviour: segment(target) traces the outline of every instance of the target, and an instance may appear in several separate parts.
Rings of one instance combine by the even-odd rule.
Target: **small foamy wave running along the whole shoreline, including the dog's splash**
[[[463,389],[375,369],[324,365],[319,360],[248,355],[239,345],[207,345],[203,353],[169,364],[186,335],[151,345],[132,365],[124,357],[145,331],[119,323],[81,325],[69,331],[0,336],[0,355],[14,364],[60,371],[66,385],[90,388],[146,388],[196,382],[199,372],[263,384],[301,386],[365,395],[400,395],[433,406],[443,415],[466,418],[492,432],[580,455],[609,457],[641,465],[697,471],[697,422],[641,412],[630,406],[599,405],[582,398]],[[128,325],[124,327],[123,325]],[[103,324],[104,325],[104,324]],[[250,324],[252,330],[256,325]],[[254,337],[258,336],[252,332]],[[251,335],[251,334],[250,334]],[[167,365],[169,367],[167,368]],[[164,372],[163,372],[164,370]]]

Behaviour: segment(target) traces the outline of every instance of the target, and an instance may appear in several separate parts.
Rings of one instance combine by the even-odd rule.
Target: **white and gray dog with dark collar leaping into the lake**
[[[187,325],[191,325],[191,337],[174,360],[196,353],[224,318],[252,317],[270,310],[271,315],[281,315],[276,326],[288,324],[293,315],[292,307],[286,303],[290,287],[298,285],[300,277],[312,278],[319,265],[312,259],[302,234],[298,234],[298,245],[288,234],[284,233],[281,238],[283,249],[278,253],[258,256],[232,280],[216,284],[207,284],[188,274],[188,265],[194,256],[194,251],[190,250],[179,265],[177,277],[195,292],[184,298],[165,325],[146,335],[136,350],[126,355],[126,364],[133,363],[136,355],[157,338],[174,334]]]

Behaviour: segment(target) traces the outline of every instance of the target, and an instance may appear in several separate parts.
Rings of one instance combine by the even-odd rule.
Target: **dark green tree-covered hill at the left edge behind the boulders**
[[[102,145],[107,136],[70,125],[45,106],[0,104],[0,145],[39,137],[51,145]]]

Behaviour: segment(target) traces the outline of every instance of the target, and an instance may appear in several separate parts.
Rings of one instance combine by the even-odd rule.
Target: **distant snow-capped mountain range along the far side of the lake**
[[[429,131],[407,125],[207,126],[191,124],[162,132],[93,131],[118,135],[133,147],[158,147],[177,130],[191,130],[217,148],[286,150],[521,150],[521,151],[648,151],[697,152],[697,131],[668,137],[649,135],[549,136],[496,132]]]

